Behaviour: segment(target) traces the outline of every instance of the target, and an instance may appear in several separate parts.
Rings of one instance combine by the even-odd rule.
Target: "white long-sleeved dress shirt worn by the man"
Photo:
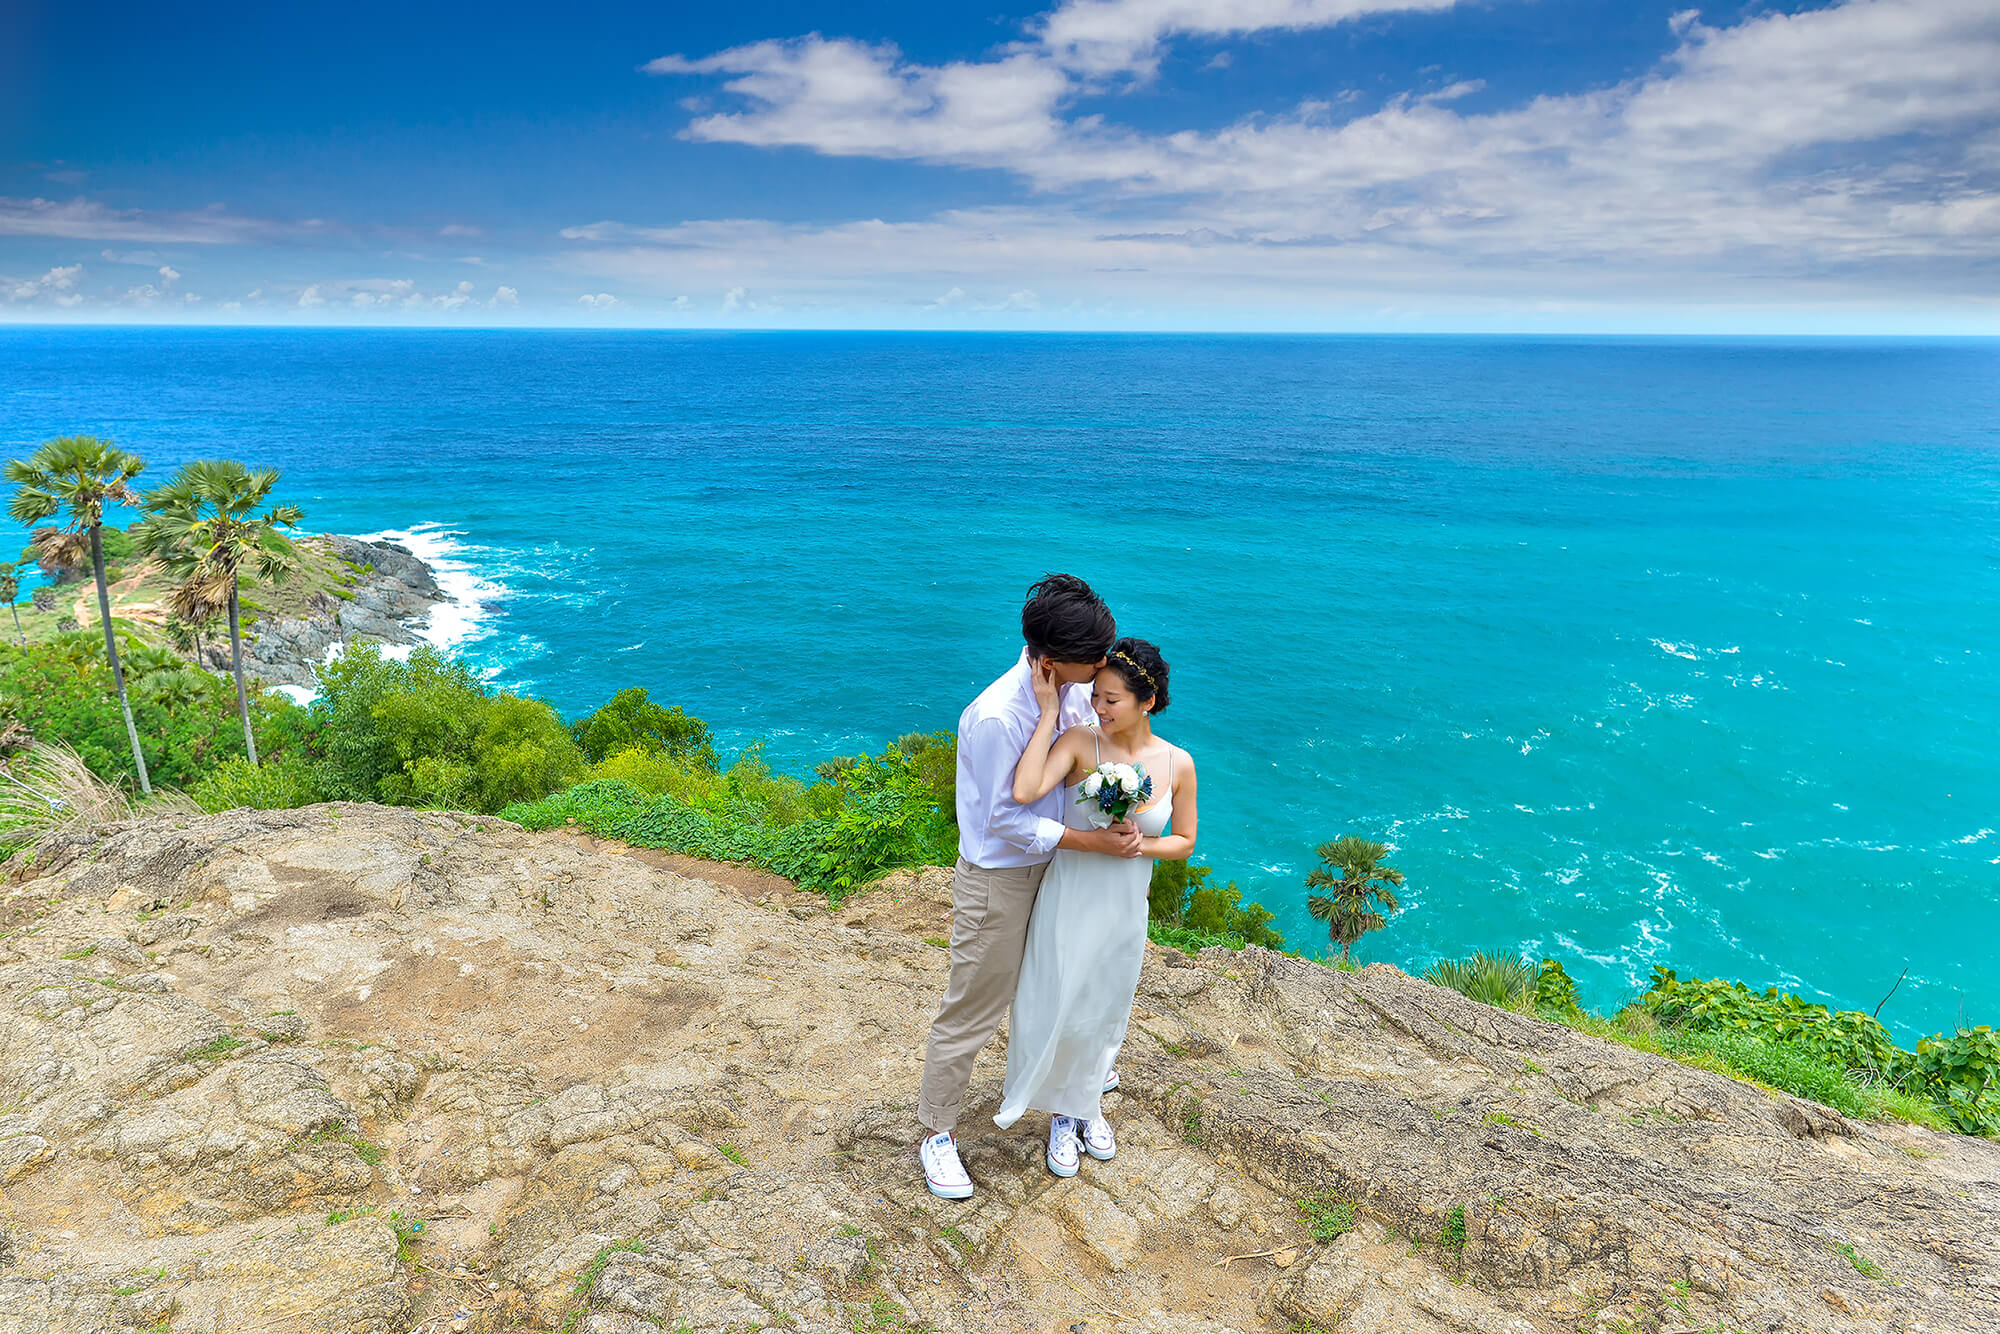
[[[1096,724],[1088,684],[1062,686],[1060,700],[1056,736]],[[958,856],[974,866],[1040,866],[1056,856],[1064,788],[1026,806],[1014,800],[1014,770],[1040,720],[1026,648],[958,716]]]

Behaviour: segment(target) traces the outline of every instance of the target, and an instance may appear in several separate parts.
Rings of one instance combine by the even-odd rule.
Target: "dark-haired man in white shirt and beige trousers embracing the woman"
[[[1072,830],[1062,822],[1068,794],[1056,788],[1028,806],[1014,800],[1014,768],[1042,716],[1034,668],[1048,660],[1062,682],[1062,730],[1096,722],[1088,682],[1118,638],[1110,608],[1080,578],[1050,574],[1020,610],[1026,640],[1014,668],[986,686],[958,718],[958,870],[952,876],[952,976],[930,1026],[916,1118],[930,1134],[918,1146],[930,1192],[972,1194],[958,1160],[958,1104],[972,1060],[1014,1004],[1034,894],[1056,848],[1138,856],[1134,824]]]

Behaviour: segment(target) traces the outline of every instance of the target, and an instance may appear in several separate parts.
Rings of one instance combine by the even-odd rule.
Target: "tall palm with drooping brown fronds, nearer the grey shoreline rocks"
[[[298,552],[280,528],[296,528],[304,514],[282,504],[258,514],[256,508],[278,484],[276,468],[244,468],[234,458],[204,458],[174,474],[160,490],[148,492],[140,550],[158,556],[180,578],[168,594],[168,610],[186,622],[202,622],[216,612],[230,616],[230,666],[236,670],[236,712],[244,720],[244,750],[256,764],[256,736],[250,732],[250,692],[244,686],[244,636],[240,590],[244,570],[276,584],[298,568]]]

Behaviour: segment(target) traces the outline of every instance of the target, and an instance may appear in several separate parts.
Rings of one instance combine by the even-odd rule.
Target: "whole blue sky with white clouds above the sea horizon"
[[[14,14],[0,320],[2000,332],[1994,0]]]

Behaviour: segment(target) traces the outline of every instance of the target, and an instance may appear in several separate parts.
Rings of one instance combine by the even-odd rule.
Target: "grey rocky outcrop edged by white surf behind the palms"
[[[312,686],[312,668],[348,640],[418,644],[430,610],[450,600],[432,568],[406,546],[342,534],[322,540],[356,570],[352,598],[322,594],[304,614],[258,620],[244,636],[244,672],[266,684]],[[228,642],[204,644],[202,666],[228,672]]]

